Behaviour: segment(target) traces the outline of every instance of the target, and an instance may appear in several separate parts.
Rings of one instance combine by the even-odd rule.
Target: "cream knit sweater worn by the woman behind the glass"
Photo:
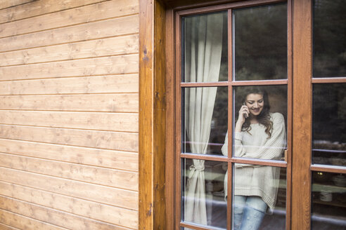
[[[271,137],[265,133],[265,127],[251,124],[249,132],[242,131],[234,135],[234,156],[244,158],[262,158],[280,160],[286,147],[286,130],[283,115],[270,114],[273,122]],[[222,154],[227,153],[227,137],[222,147]],[[260,196],[273,209],[278,191],[280,168],[262,165],[235,164],[233,189],[234,195]],[[224,180],[225,194],[227,194],[227,174]]]

